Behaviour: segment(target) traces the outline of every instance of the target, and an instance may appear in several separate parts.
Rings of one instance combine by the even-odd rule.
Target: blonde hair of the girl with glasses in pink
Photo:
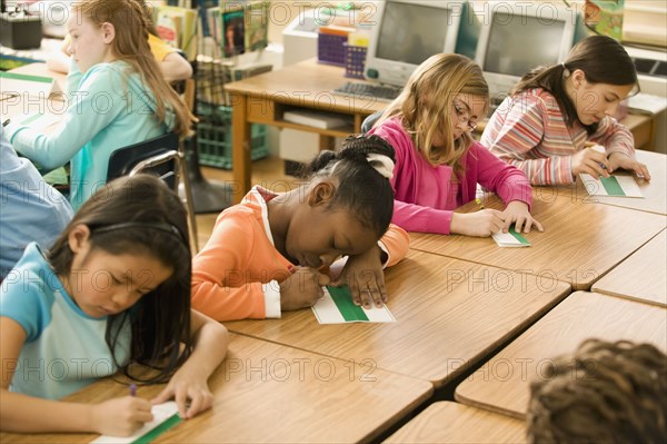
[[[451,109],[459,93],[481,98],[485,114],[488,110],[489,87],[475,61],[456,53],[431,56],[412,72],[401,93],[375,126],[395,116],[400,117],[417,149],[429,164],[449,165],[460,172],[460,159],[472,145],[472,137],[465,132],[455,140],[452,136]],[[436,148],[432,140],[438,132],[442,135],[444,146]]]

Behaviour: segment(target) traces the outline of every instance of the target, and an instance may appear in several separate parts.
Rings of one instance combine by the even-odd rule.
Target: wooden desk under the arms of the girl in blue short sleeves
[[[176,425],[157,443],[368,442],[426,401],[430,384],[380,369],[232,335],[209,384],[211,410]],[[365,375],[367,377],[365,377]],[[162,386],[139,387],[150,397]],[[127,395],[106,379],[71,396],[96,403]],[[3,443],[88,443],[92,434],[0,434]]]

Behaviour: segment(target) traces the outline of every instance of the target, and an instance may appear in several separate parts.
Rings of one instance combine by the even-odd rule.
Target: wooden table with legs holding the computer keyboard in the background
[[[232,103],[232,159],[235,203],[250,190],[250,124],[272,125],[320,135],[320,146],[332,148],[335,137],[360,132],[364,119],[385,109],[386,102],[334,95],[348,79],[344,69],[318,65],[315,59],[225,86]],[[282,120],[287,109],[316,109],[350,117],[350,125],[318,129]]]

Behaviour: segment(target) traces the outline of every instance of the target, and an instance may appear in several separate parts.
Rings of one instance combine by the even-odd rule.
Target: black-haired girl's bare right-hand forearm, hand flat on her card
[[[197,310],[191,310],[191,335],[195,349],[186,363],[176,372],[167,387],[152,399],[163,403],[172,397],[182,418],[191,418],[213,405],[213,395],[208,378],[227,354],[229,335],[222,324]],[[187,402],[190,399],[190,405]]]

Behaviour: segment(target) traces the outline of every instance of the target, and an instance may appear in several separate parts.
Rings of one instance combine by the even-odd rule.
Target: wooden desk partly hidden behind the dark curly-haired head
[[[589,337],[651,343],[667,351],[667,310],[597,293],[569,295],[456,388],[456,399],[522,418],[529,384],[551,358]]]

